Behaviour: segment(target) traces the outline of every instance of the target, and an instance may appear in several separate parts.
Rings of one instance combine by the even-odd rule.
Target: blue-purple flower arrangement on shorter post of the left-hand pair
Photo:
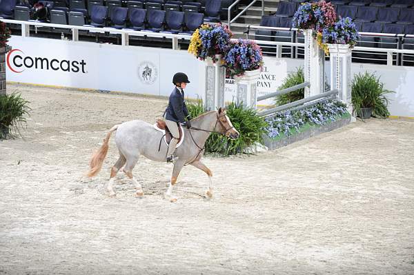
[[[240,77],[245,71],[262,70],[262,49],[250,40],[230,41],[223,61],[226,77]]]

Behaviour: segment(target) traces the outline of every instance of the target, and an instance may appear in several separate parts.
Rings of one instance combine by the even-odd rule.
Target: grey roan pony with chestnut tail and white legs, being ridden
[[[206,190],[206,196],[212,198],[213,172],[201,162],[201,157],[204,155],[204,145],[208,136],[213,132],[217,132],[224,134],[229,139],[234,140],[239,138],[239,132],[233,127],[233,124],[226,114],[226,110],[222,108],[219,108],[217,111],[201,114],[190,122],[192,127],[190,129],[184,129],[184,141],[177,147],[174,153],[174,167],[172,169],[170,185],[165,195],[166,198],[170,198],[170,201],[177,201],[177,198],[172,196],[172,189],[177,183],[177,178],[184,165],[193,165],[207,174],[208,190]],[[89,163],[90,169],[87,174],[88,177],[96,176],[101,170],[103,160],[108,153],[110,136],[115,131],[115,143],[119,151],[119,158],[110,170],[110,178],[106,184],[106,190],[110,196],[116,196],[114,186],[115,176],[119,170],[122,170],[135,183],[137,188],[136,195],[142,197],[144,196],[142,186],[132,174],[132,170],[141,155],[146,156],[147,159],[152,161],[166,161],[168,145],[161,142],[164,134],[156,130],[150,123],[139,120],[127,121],[113,126],[106,134],[106,138],[103,139],[101,147],[97,152],[92,154]]]

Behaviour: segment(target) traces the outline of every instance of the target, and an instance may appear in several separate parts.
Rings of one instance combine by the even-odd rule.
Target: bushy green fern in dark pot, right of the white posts
[[[384,89],[384,83],[374,73],[356,74],[352,81],[354,114],[362,116],[362,108],[372,108],[373,116],[386,119],[390,115],[386,94],[390,93],[393,91]]]

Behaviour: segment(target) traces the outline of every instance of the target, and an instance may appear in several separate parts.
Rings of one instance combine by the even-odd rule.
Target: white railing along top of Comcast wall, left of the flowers
[[[37,21],[19,21],[12,19],[1,19],[4,23],[11,23],[21,25],[21,36],[30,37],[30,26],[35,28],[48,27],[48,28],[61,28],[72,31],[72,41],[79,41],[79,30],[84,30],[92,33],[105,33],[110,34],[121,34],[121,45],[129,45],[129,37],[154,37],[154,38],[166,38],[172,39],[172,49],[179,50],[178,41],[179,39],[190,40],[190,35],[185,34],[169,34],[164,32],[146,32],[142,30],[118,30],[115,28],[95,28],[87,26],[73,26],[73,25],[62,25],[52,23],[42,23]]]

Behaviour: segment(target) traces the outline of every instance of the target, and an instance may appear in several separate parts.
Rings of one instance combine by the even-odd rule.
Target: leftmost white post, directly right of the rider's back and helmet
[[[216,55],[216,61],[206,59],[206,91],[204,109],[217,110],[224,107],[224,84],[226,81],[226,68],[221,65],[221,55]]]

